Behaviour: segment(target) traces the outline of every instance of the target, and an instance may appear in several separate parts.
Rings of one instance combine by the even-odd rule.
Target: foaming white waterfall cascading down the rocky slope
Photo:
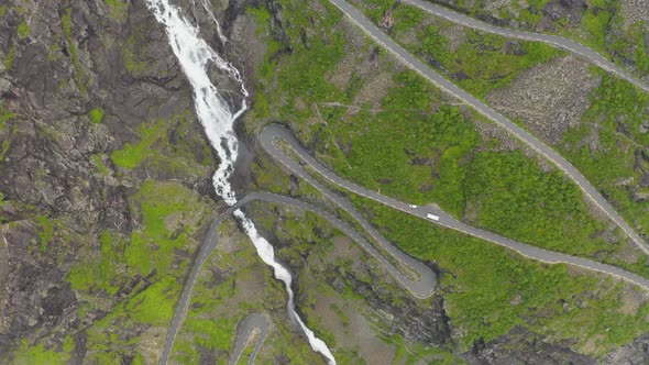
[[[205,0],[204,8],[209,12],[209,7]],[[198,27],[193,25],[180,10],[172,5],[168,0],[146,0],[148,8],[154,12],[157,21],[165,25],[169,44],[174,54],[178,58],[183,71],[189,79],[194,88],[194,101],[196,113],[212,147],[219,154],[221,164],[213,176],[213,186],[217,193],[223,198],[228,204],[237,202],[237,197],[230,185],[229,178],[234,168],[238,155],[238,141],[234,134],[233,124],[237,118],[243,113],[248,106],[245,99],[241,108],[231,112],[226,100],[213,86],[207,74],[207,67],[213,63],[219,69],[223,70],[239,85],[240,92],[248,97],[248,91],[243,86],[241,75],[232,65],[221,58],[202,38],[198,36]],[[217,23],[219,36],[224,41],[220,33],[217,19],[210,13],[212,20]],[[253,242],[257,254],[264,263],[272,266],[275,277],[285,284],[288,294],[288,312],[297,320],[300,328],[305,331],[309,344],[314,351],[321,353],[330,364],[336,364],[336,360],[327,344],[318,339],[314,331],[306,327],[295,310],[294,294],[290,288],[293,278],[288,270],[275,261],[273,246],[262,237],[252,221],[250,221],[241,210],[237,210],[234,215],[240,220],[248,236]]]

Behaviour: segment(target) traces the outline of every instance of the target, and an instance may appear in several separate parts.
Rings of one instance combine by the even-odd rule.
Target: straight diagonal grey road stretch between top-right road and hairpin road
[[[530,148],[539,153],[540,155],[544,156],[549,161],[551,161],[557,167],[559,167],[570,179],[572,179],[579,187],[584,191],[584,193],[602,210],[608,218],[615,222],[630,239],[631,241],[645,252],[645,254],[649,255],[649,245],[640,237],[636,231],[613,209],[610,203],[606,201],[606,199],[595,189],[593,185],[574,167],[570,164],[565,158],[563,158],[560,154],[554,152],[554,150],[547,146],[544,143],[539,141],[537,137],[531,135],[529,132],[525,131],[522,128],[518,126],[516,123],[512,122],[507,118],[505,118],[499,112],[495,111],[477,98],[473,97],[472,95],[468,93],[450,80],[446,79],[435,69],[429,67],[428,65],[424,64],[410,53],[408,53],[404,47],[398,45],[395,41],[393,41],[388,35],[386,35],[383,31],[381,31],[376,25],[374,25],[370,20],[367,20],[358,9],[352,7],[345,0],[329,0],[336,7],[338,7],[349,19],[352,20],[356,25],[359,25],[370,37],[372,37],[376,43],[382,45],[388,52],[394,54],[398,59],[400,59],[404,64],[406,64],[409,68],[414,69],[415,71],[419,73],[426,79],[441,88],[442,90],[449,92],[450,95],[454,96],[455,98],[460,99],[462,102],[469,104],[473,109],[477,110],[481,114],[485,115],[490,120],[494,121],[499,126],[504,128],[508,131],[512,135],[516,136],[518,140],[522,141],[527,144]],[[415,0],[410,0],[415,1]],[[418,0],[417,0],[418,1]],[[459,14],[455,14],[459,16]],[[468,18],[468,16],[466,16]],[[470,19],[470,18],[469,18]],[[512,31],[515,32],[515,31]],[[525,32],[522,32],[525,33]],[[531,33],[530,33],[531,34]],[[537,34],[541,36],[540,34]],[[564,40],[569,42],[568,40]],[[618,71],[622,71],[618,69]],[[623,71],[624,73],[624,71]],[[630,77],[630,76],[629,76]],[[636,82],[634,82],[636,84]]]

